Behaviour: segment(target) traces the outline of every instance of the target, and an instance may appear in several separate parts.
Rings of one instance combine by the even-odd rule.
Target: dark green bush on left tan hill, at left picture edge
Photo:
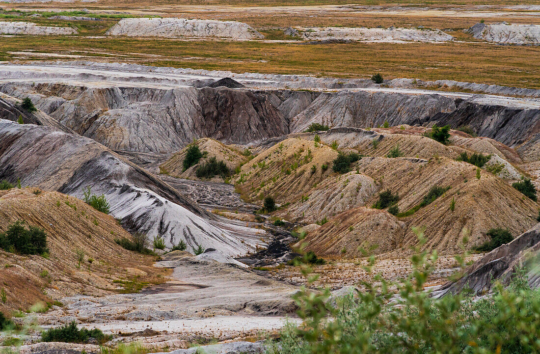
[[[25,228],[24,221],[16,221],[10,225],[8,231],[0,233],[0,248],[21,255],[43,255],[48,253],[47,234],[36,226]]]

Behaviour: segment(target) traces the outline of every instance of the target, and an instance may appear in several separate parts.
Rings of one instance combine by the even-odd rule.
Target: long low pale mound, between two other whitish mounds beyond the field
[[[448,42],[454,37],[441,30],[419,30],[410,28],[352,28],[320,27],[298,28],[301,37],[309,40],[326,41],[328,39],[364,41],[364,42]]]

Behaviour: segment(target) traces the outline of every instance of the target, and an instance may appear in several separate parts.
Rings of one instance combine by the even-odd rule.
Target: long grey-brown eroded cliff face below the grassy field
[[[537,104],[509,103],[496,96],[201,88],[211,83],[208,79],[147,78],[143,87],[131,87],[106,80],[99,86],[17,80],[1,84],[0,91],[21,99],[30,97],[58,122],[110,149],[134,152],[171,153],[203,137],[227,144],[256,144],[289,131],[302,132],[311,123],[375,128],[384,122],[390,126],[468,125],[478,135],[514,148],[538,133],[540,122]]]

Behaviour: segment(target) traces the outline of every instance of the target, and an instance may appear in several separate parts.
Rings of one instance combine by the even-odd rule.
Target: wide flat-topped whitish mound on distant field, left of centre
[[[106,34],[132,37],[264,38],[245,23],[185,18],[123,18]]]

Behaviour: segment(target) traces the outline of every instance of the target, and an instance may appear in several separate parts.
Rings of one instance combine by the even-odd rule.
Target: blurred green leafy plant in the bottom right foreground
[[[375,275],[363,282],[354,296],[330,297],[329,289],[302,287],[296,294],[300,326],[288,324],[279,346],[270,342],[268,352],[279,354],[354,353],[531,353],[540,351],[540,292],[528,288],[521,271],[508,288],[473,301],[466,295],[436,299],[424,289],[435,269],[436,252],[421,251],[427,239],[414,229],[419,243],[411,257],[413,271],[397,284]],[[462,249],[467,242],[463,239]],[[302,245],[302,248],[303,249]],[[362,250],[366,255],[369,253]],[[466,253],[456,257],[463,265]],[[372,270],[375,257],[364,266]],[[301,264],[308,285],[316,277]],[[397,288],[397,293],[390,289]]]

